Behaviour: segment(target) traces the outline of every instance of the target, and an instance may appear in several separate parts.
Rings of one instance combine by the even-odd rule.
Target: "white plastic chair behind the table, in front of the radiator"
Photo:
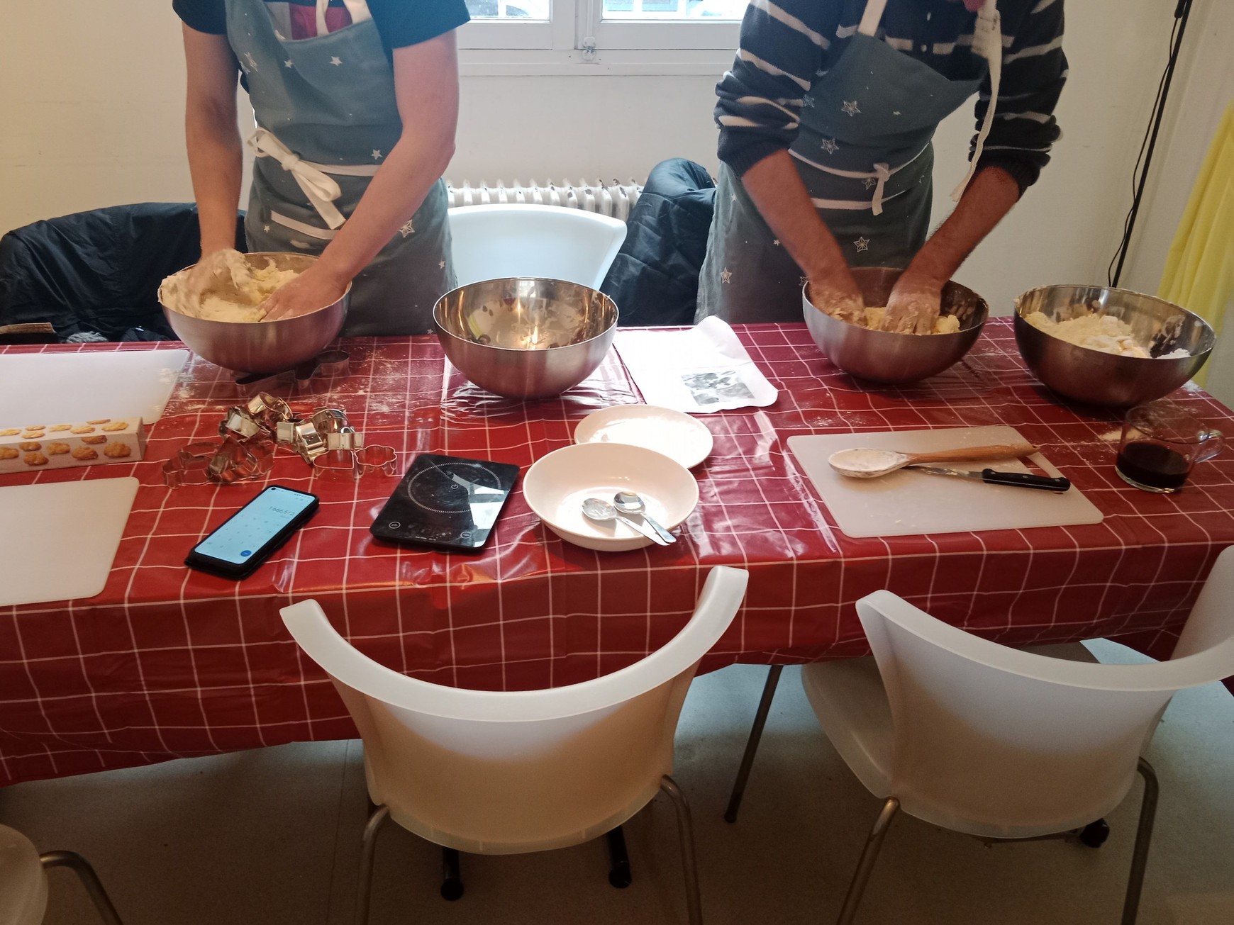
[[[458,285],[543,276],[600,289],[626,223],[563,206],[459,206],[448,212]]]

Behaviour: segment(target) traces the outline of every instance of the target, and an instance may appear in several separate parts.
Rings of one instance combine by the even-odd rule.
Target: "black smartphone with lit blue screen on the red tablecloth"
[[[316,495],[271,485],[194,546],[184,564],[223,578],[247,578],[317,507]]]

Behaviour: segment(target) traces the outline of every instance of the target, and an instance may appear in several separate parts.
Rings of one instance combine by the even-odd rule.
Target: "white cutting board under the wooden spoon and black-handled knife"
[[[1029,443],[1013,427],[961,427],[944,430],[895,430],[861,434],[790,437],[789,449],[814,483],[835,524],[849,536],[908,536],[921,533],[967,533],[1030,527],[1101,523],[1102,513],[1079,488],[1055,493],[1037,488],[986,485],[900,470],[881,479],[850,479],[832,469],[837,450],[868,446],[930,453],[960,446]],[[1037,454],[1030,458],[1048,475],[1059,470]],[[935,462],[933,465],[946,465]],[[1028,472],[1019,460],[956,462],[953,469],[997,469]]]

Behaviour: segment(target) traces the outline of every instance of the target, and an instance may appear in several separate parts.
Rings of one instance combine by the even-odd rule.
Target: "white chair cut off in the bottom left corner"
[[[0,825],[0,925],[39,925],[47,910],[47,868],[70,867],[106,925],[122,925],[94,868],[73,851],[39,855],[16,829]]]

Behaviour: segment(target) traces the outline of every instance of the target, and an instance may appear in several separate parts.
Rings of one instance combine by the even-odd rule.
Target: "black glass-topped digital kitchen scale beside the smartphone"
[[[489,539],[517,479],[518,466],[510,462],[421,453],[369,532],[473,553]]]

